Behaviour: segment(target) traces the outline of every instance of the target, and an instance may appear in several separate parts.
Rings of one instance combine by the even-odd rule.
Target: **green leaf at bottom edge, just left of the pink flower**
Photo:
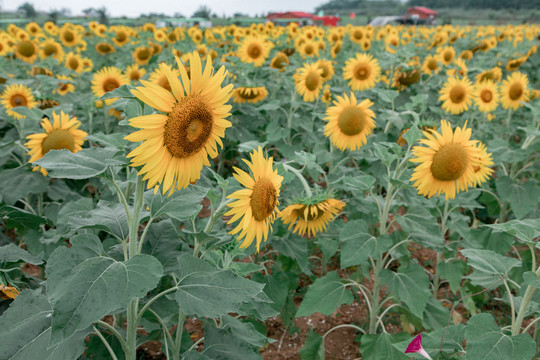
[[[384,332],[376,335],[363,335],[360,344],[362,360],[407,360],[403,352],[396,349],[393,344],[404,341],[409,337],[407,333],[389,334]]]

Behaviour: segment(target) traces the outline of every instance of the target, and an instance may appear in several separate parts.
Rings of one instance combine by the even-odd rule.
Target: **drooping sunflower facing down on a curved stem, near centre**
[[[327,198],[324,200],[298,201],[281,211],[280,218],[289,230],[294,226],[293,233],[300,236],[314,237],[317,233],[326,231],[326,226],[345,207],[340,200]]]

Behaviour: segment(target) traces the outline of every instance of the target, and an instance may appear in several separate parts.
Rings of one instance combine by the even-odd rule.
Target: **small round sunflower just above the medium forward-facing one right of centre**
[[[343,67],[343,78],[349,80],[352,90],[363,91],[374,87],[380,75],[381,67],[377,59],[365,53],[356,54]]]

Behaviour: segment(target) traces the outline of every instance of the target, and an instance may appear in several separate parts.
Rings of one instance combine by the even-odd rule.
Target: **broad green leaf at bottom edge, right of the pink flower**
[[[465,328],[466,360],[531,360],[536,344],[529,334],[509,336],[490,314],[473,316]]]

